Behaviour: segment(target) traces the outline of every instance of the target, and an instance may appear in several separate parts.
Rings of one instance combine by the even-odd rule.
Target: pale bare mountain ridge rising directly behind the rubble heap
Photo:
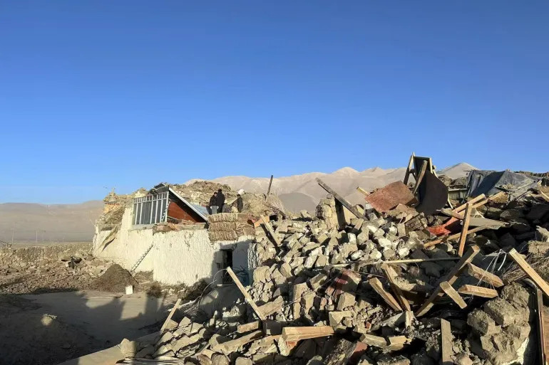
[[[446,174],[452,179],[466,176],[467,172],[476,167],[462,162],[443,169],[438,174]],[[302,175],[284,176],[272,179],[271,193],[277,194],[289,211],[299,211],[307,209],[314,211],[314,207],[320,199],[326,196],[326,191],[322,189],[315,179],[319,177],[326,184],[332,186],[339,194],[344,196],[351,203],[360,203],[364,201],[364,195],[356,191],[360,186],[366,191],[383,187],[391,182],[404,179],[406,168],[381,169],[373,167],[364,171],[356,171],[352,167],[343,167],[331,174],[323,172],[309,172]],[[192,179],[186,184],[190,184],[197,179]],[[251,193],[265,193],[269,187],[270,178],[268,177],[248,177],[248,176],[225,176],[213,179],[220,184],[227,184],[232,189],[244,189]],[[413,181],[413,178],[412,178]]]

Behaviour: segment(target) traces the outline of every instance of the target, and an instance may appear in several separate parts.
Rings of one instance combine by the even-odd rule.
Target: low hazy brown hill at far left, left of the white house
[[[0,240],[11,242],[91,241],[103,201],[80,204],[0,203]]]

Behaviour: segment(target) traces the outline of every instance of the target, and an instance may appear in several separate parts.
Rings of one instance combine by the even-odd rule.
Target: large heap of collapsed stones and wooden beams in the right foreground
[[[540,290],[549,295],[549,285],[544,266],[527,261],[549,251],[549,199],[496,195],[429,217],[406,206],[379,213],[368,203],[353,215],[333,196],[314,217],[262,217],[251,250],[263,265],[252,285],[227,269],[245,300],[207,319],[174,307],[155,338],[123,342],[125,361],[532,362],[544,343],[535,330],[545,325]]]

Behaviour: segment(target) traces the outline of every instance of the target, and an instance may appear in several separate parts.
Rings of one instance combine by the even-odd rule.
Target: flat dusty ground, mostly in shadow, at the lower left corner
[[[175,297],[145,293],[0,295],[0,364],[53,365],[155,331]]]

